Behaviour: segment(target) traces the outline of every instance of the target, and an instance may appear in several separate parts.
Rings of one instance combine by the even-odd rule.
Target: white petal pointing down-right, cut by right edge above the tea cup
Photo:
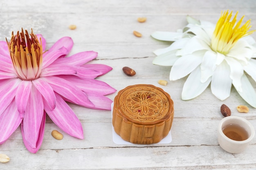
[[[252,107],[256,108],[256,93],[252,86],[252,84],[249,82],[249,79],[246,77],[245,74],[241,77],[242,82],[242,88],[243,92],[238,91],[239,95]]]

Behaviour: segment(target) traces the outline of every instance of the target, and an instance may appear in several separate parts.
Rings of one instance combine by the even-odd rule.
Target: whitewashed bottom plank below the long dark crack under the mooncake
[[[6,153],[27,155],[26,152],[15,150]],[[254,146],[249,146],[246,154],[237,155],[229,154],[219,146],[40,150],[38,154],[27,155],[26,161],[21,156],[13,157],[1,169],[249,169],[256,168],[255,152]]]

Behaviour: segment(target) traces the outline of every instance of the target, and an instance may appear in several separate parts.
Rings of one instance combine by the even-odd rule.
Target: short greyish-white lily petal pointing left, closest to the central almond
[[[180,58],[175,55],[176,51],[169,51],[167,53],[158,55],[154,58],[153,64],[160,66],[172,66],[175,61]]]

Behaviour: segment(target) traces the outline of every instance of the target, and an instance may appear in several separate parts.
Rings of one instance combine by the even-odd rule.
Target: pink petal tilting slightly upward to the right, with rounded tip
[[[98,53],[94,51],[84,51],[71,55],[70,57],[58,58],[58,60],[56,60],[54,64],[69,64],[73,66],[81,66],[96,58],[97,55]]]

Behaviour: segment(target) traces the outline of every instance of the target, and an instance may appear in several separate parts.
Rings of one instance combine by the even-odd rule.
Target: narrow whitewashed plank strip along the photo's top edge
[[[102,14],[138,14],[152,13],[218,13],[220,10],[233,9],[243,13],[255,13],[254,0],[190,0],[166,1],[166,0],[3,0],[0,2],[4,13],[102,13]],[[29,10],[26,10],[29,9]]]

